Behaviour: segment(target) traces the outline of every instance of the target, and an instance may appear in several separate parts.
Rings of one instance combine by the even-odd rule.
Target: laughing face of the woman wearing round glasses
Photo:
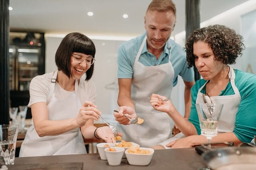
[[[72,53],[70,58],[70,71],[73,79],[80,79],[82,75],[90,68],[90,65],[86,64],[86,58],[92,57],[83,53]],[[76,55],[76,56],[74,56]],[[82,63],[76,63],[75,57],[82,57],[84,61]]]

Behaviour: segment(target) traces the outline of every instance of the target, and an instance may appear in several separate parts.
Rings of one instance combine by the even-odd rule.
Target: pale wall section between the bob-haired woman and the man
[[[92,40],[96,47],[95,72],[98,109],[108,122],[114,123],[113,110],[118,109],[117,50],[122,41]],[[109,115],[109,116],[105,116]]]

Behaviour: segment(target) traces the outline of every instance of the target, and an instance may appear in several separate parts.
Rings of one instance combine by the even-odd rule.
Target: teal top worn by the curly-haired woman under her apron
[[[240,141],[250,143],[252,139],[254,139],[254,135],[256,135],[256,75],[236,69],[234,70],[236,74],[235,85],[241,96],[241,102],[236,113],[234,134]],[[195,103],[198,90],[205,82],[206,80],[204,79],[198,80],[191,89],[192,106],[189,121],[194,124],[198,134],[201,134],[201,129]],[[205,88],[203,88],[201,92],[205,94]],[[229,82],[226,89],[223,90],[219,96],[232,94],[235,93]]]

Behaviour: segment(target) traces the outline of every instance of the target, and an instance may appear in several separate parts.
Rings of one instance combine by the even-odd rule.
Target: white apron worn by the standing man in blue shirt
[[[138,62],[145,42],[146,36],[134,61],[131,93],[136,114],[144,119],[144,123],[118,124],[117,128],[122,133],[123,140],[138,143],[141,147],[153,147],[171,137],[174,122],[166,113],[156,111],[151,106],[150,96],[152,93],[171,96],[174,69],[170,63],[170,55],[168,63],[157,66],[144,66]]]

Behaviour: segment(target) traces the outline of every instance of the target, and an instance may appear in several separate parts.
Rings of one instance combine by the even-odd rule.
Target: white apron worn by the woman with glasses
[[[75,93],[60,100],[54,94],[57,74],[58,71],[55,71],[47,97],[48,119],[58,121],[77,117],[81,107],[77,96],[78,81],[75,82]],[[79,128],[56,136],[39,137],[34,124],[28,129],[20,148],[20,157],[83,153],[86,153],[86,149]]]

